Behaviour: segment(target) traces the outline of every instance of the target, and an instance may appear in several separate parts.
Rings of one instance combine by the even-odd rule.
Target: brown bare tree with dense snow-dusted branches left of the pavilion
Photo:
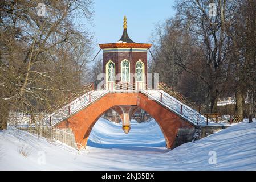
[[[46,110],[81,86],[86,58],[75,53],[90,47],[91,36],[74,20],[91,20],[92,1],[46,1],[45,16],[39,3],[0,3],[0,129],[10,110]]]

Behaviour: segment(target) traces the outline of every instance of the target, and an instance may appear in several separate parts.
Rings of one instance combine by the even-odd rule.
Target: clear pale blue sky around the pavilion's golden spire
[[[95,35],[95,51],[98,43],[121,38],[124,15],[129,37],[137,43],[148,43],[155,24],[174,15],[173,5],[174,0],[95,0],[94,26],[88,27]]]

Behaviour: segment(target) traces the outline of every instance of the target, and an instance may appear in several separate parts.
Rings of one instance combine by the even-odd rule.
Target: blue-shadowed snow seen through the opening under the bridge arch
[[[127,148],[127,146],[165,147],[164,135],[162,135],[160,127],[153,119],[145,123],[137,123],[132,120],[131,130],[128,134],[125,134],[121,127],[121,122],[117,124],[100,119],[100,122],[96,122],[92,129],[88,146],[104,148]],[[140,133],[145,135],[143,136]],[[100,143],[103,143],[103,145]]]

